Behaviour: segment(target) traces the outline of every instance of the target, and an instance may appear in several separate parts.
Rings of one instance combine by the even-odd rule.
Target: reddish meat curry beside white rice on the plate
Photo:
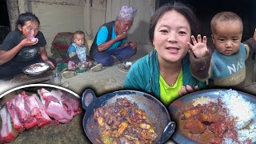
[[[226,116],[218,103],[194,106],[183,110],[178,118],[179,130],[186,137],[200,143],[221,143],[223,137],[238,141],[234,120]]]

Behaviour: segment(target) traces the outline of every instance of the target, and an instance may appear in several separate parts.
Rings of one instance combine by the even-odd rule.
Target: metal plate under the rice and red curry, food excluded
[[[171,138],[177,142],[177,143],[190,143],[195,144],[198,142],[195,142],[191,140],[190,138],[187,138],[178,128],[178,116],[181,113],[182,110],[185,110],[187,108],[190,108],[192,106],[192,100],[194,98],[201,98],[201,97],[209,97],[209,98],[218,98],[218,93],[220,90],[226,90],[226,89],[212,89],[212,90],[200,90],[191,94],[186,94],[186,96],[183,96],[182,98],[178,98],[174,102],[170,104],[168,107],[168,110],[170,111],[170,118],[176,122],[176,130],[174,131],[174,134],[171,136]],[[256,97],[251,94],[246,94],[243,92],[238,91],[238,94],[242,96],[242,98],[245,98],[247,101],[256,104]]]

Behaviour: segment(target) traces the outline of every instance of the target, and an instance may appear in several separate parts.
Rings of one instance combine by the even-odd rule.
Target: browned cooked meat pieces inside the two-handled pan
[[[158,137],[146,112],[127,98],[94,110],[103,143],[152,143]]]

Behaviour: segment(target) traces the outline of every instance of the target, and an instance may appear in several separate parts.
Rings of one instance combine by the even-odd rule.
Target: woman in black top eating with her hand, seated
[[[16,30],[11,31],[0,46],[0,79],[22,74],[22,68],[36,62],[51,62],[46,53],[46,38],[39,31],[39,19],[24,13],[18,17]]]

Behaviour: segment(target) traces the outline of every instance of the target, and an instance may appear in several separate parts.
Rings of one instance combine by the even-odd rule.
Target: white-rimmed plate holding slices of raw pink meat
[[[5,101],[0,110],[0,143],[62,143],[65,138],[70,138],[68,142],[78,139],[86,142],[86,138],[81,137],[82,124],[77,122],[82,118],[81,100],[71,90],[33,84],[9,90],[0,98]]]

